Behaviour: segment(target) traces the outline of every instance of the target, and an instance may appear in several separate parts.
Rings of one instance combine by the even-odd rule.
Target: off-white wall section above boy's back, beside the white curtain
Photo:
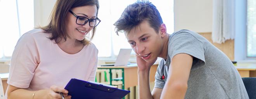
[[[174,31],[212,31],[213,0],[174,0]]]

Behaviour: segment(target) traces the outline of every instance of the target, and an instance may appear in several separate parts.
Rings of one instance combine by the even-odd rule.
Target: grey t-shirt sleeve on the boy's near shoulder
[[[192,69],[205,64],[204,44],[189,32],[181,31],[171,37],[168,46],[168,55],[172,59],[179,53],[193,56]]]

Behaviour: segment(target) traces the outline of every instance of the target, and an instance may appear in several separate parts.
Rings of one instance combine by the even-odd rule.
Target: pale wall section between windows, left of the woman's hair
[[[56,0],[34,0],[35,27],[46,26]]]

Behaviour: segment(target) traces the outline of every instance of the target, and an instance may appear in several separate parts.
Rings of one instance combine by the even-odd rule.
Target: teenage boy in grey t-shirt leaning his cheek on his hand
[[[136,2],[114,23],[137,54],[140,99],[249,99],[228,57],[199,34],[166,26],[149,1]],[[150,92],[149,70],[160,61]]]

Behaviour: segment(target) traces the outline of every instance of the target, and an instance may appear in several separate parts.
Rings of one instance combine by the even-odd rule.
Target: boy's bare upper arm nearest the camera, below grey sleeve
[[[193,56],[180,53],[173,56],[161,99],[184,99]]]

